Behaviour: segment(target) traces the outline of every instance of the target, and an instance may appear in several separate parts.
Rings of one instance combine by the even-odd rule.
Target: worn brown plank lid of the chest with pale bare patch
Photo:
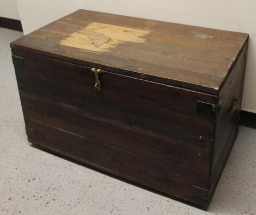
[[[77,10],[11,48],[217,94],[248,34]]]

